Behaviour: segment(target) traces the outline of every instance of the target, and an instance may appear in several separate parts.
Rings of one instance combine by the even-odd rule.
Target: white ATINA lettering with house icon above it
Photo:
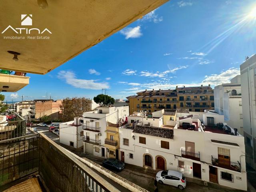
[[[32,14],[21,14],[21,25],[32,26]],[[2,31],[2,34],[8,29],[14,31],[16,34],[31,34],[32,31],[37,31],[38,34],[43,34],[44,32],[52,34],[52,32],[50,32],[50,30],[48,30],[47,28],[45,28],[44,30],[40,30],[38,28],[14,28],[11,25],[6,27],[5,30]]]

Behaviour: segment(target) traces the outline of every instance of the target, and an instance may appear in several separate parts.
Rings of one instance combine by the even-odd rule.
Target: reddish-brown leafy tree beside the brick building
[[[60,106],[63,122],[72,121],[74,117],[82,116],[84,112],[91,110],[92,100],[82,98],[65,98]]]

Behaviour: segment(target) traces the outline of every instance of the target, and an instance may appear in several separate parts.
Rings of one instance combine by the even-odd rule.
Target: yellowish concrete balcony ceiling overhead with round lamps
[[[167,1],[47,0],[48,7],[42,9],[36,0],[2,0],[0,68],[46,74]],[[24,26],[21,14],[27,14],[32,25]],[[11,28],[2,33],[8,26],[18,33]],[[38,30],[26,34],[26,29],[32,28],[38,28],[40,33],[47,28],[52,34],[48,31],[38,34]],[[26,39],[4,39],[4,36],[24,36]],[[28,36],[48,36],[50,39],[27,39]],[[8,50],[20,53],[18,62],[14,63]]]

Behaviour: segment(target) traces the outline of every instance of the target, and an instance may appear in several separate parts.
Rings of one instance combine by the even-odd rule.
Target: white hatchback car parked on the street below
[[[176,186],[181,190],[186,187],[186,178],[182,173],[178,171],[172,171],[172,170],[159,171],[156,174],[156,180],[160,184]]]

